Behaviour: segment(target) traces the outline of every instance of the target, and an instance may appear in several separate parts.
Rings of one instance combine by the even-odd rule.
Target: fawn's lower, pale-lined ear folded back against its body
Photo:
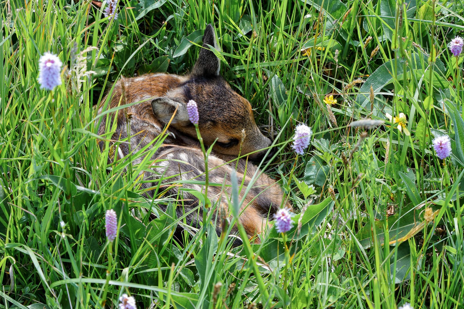
[[[164,123],[168,123],[171,120],[174,111],[175,116],[171,121],[172,124],[180,123],[189,121],[188,120],[188,113],[187,113],[187,103],[176,101],[171,98],[161,97],[155,98],[151,101],[151,107],[153,109],[153,113],[163,121]]]

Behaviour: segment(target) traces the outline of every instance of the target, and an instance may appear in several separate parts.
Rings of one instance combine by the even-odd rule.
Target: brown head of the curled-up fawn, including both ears
[[[201,137],[206,145],[216,141],[213,150],[226,155],[238,155],[240,147],[241,154],[256,151],[250,157],[258,159],[265,153],[260,150],[271,145],[271,140],[259,131],[250,102],[233,91],[219,75],[219,58],[210,50],[210,46],[217,49],[213,27],[207,25],[203,48],[191,74],[165,96],[153,99],[153,112],[158,119],[167,123],[177,108],[171,126],[196,138],[195,127],[187,114],[187,102],[194,100],[200,115]]]

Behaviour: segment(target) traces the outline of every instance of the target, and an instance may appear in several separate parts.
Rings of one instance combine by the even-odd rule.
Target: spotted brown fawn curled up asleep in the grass
[[[209,186],[208,198],[213,202],[219,202],[221,207],[218,208],[228,209],[228,199],[232,190],[230,175],[232,170],[236,170],[238,185],[243,183],[239,198],[243,198],[246,187],[251,185],[238,221],[245,227],[248,236],[252,237],[263,231],[268,217],[272,218],[272,214],[282,203],[288,208],[291,207],[284,200],[282,190],[275,181],[260,172],[254,164],[243,158],[239,159],[238,163],[237,160],[226,163],[232,156],[237,158],[239,153],[249,154],[248,158],[251,160],[261,158],[266,152],[263,149],[271,145],[271,140],[259,131],[250,102],[233,91],[219,76],[219,59],[209,49],[208,44],[216,46],[211,25],[206,27],[203,48],[189,75],[156,73],[122,79],[116,82],[112,93],[109,94],[109,103],[106,104],[108,95],[103,99],[98,114],[102,113],[103,107],[109,109],[124,103],[139,102],[127,107],[124,113],[116,114],[116,130],[110,132],[110,143],[114,143],[114,140],[126,141],[114,144],[117,148],[117,159],[126,158],[129,149],[131,153],[135,153],[152,143],[171,121],[164,145],[151,157],[153,163],[149,171],[143,172],[144,182],[141,185],[145,189],[156,187],[160,179],[163,184],[181,184],[165,186],[168,187],[165,196],[183,196],[183,207],[177,207],[177,215],[185,216],[189,225],[197,227],[198,222],[202,220],[199,201],[191,193],[180,189],[190,188],[205,192],[204,186],[182,183],[191,179],[205,182],[203,153],[195,127],[188,119],[186,107],[189,100],[195,100],[198,104],[199,128],[204,143],[206,146],[214,144],[213,153],[208,157],[209,182],[226,184]],[[107,121],[113,122],[114,118],[111,117],[114,116],[110,114]],[[126,117],[129,117],[129,130]],[[108,128],[103,119],[98,134],[105,136]],[[130,135],[130,148],[127,132]],[[103,148],[104,144],[101,141],[100,146]],[[140,164],[143,159],[144,157],[136,158],[132,164]],[[148,194],[153,195],[150,192],[148,190]],[[213,218],[216,220],[216,215]],[[220,220],[216,221],[216,229],[220,233]],[[236,227],[233,227],[232,231],[237,232]]]

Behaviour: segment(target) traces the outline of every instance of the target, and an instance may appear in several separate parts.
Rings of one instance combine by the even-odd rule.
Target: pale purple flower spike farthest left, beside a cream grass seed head
[[[61,85],[61,66],[63,63],[56,55],[46,52],[39,59],[39,84],[40,88],[53,90]]]

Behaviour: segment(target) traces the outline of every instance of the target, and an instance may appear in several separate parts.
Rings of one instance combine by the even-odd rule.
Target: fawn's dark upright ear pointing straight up
[[[192,69],[193,76],[219,76],[219,58],[216,57],[213,51],[209,49],[208,44],[214,46],[215,49],[218,49],[218,43],[216,41],[216,36],[214,35],[213,26],[211,24],[206,26],[205,34],[203,35],[203,48],[200,50],[198,60]]]

